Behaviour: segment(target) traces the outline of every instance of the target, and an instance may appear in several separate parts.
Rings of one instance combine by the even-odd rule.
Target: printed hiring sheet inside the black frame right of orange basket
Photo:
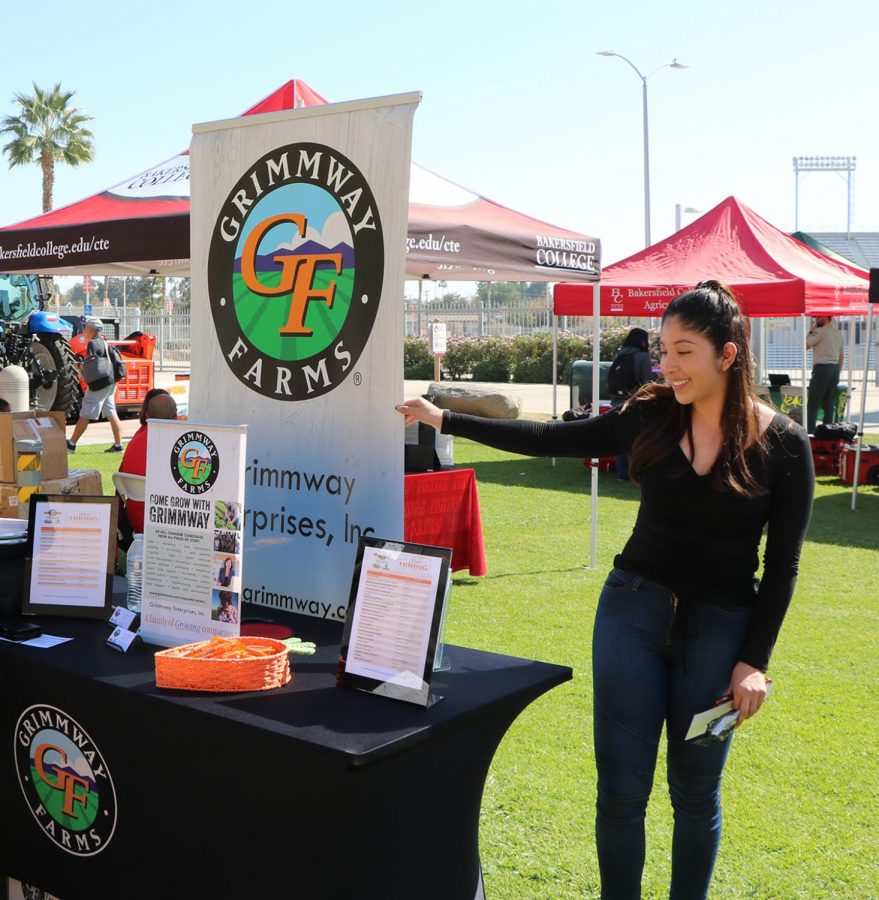
[[[364,547],[347,673],[422,689],[442,565],[439,556]]]

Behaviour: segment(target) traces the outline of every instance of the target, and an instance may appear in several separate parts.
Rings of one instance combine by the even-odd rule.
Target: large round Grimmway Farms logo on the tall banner
[[[383,275],[375,198],[351,160],[313,143],[267,153],[211,238],[208,291],[229,368],[276,400],[338,387],[369,339]]]

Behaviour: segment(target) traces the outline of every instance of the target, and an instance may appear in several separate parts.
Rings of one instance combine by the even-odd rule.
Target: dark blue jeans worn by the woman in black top
[[[684,741],[693,714],[729,686],[750,606],[681,606],[670,589],[620,569],[605,582],[592,639],[596,843],[604,900],[641,896],[644,816],[663,725],[674,809],[672,900],[704,898],[720,843],[720,780],[730,740]]]

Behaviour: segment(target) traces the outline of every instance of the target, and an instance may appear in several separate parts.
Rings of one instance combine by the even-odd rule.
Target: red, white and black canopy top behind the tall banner
[[[245,116],[327,101],[288,81]],[[547,225],[412,166],[407,272],[464,281],[595,281],[596,238]],[[189,154],[0,228],[0,271],[188,275]]]

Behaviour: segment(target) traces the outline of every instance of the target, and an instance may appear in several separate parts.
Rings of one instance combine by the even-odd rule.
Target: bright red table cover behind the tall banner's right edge
[[[406,475],[404,533],[413,544],[452,548],[452,571],[485,575],[482,517],[473,469]]]

